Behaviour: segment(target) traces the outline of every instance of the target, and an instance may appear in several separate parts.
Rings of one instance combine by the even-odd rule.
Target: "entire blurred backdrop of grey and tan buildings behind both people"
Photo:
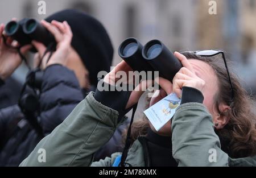
[[[223,49],[230,68],[251,94],[256,93],[256,0],[216,0],[213,15],[208,0],[45,0],[46,15],[38,14],[38,2],[1,0],[0,22],[13,17],[40,20],[62,9],[80,9],[108,30],[115,48],[113,65],[121,60],[119,44],[130,36],[142,44],[160,39],[171,51]],[[23,65],[13,77],[23,82],[26,71]]]

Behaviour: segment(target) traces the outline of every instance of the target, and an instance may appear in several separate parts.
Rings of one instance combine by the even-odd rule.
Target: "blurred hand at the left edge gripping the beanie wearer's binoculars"
[[[10,37],[5,36],[6,44],[3,41],[5,24],[0,25],[0,77],[5,80],[7,77],[15,71],[16,68],[22,63],[22,59],[16,49],[12,47],[18,47],[18,43],[14,42]],[[10,46],[9,46],[10,45]],[[20,48],[22,54],[26,53],[31,48],[31,45],[24,45]]]

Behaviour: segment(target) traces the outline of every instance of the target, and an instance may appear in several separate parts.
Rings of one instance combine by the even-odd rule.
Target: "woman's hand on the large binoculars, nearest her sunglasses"
[[[179,52],[175,52],[174,55],[180,60],[183,68],[176,73],[174,79],[172,80],[172,91],[180,98],[181,89],[183,86],[189,86],[203,92],[205,81],[196,75],[188,59]]]

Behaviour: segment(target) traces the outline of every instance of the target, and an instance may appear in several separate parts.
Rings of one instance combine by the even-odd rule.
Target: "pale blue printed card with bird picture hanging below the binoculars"
[[[181,100],[171,93],[144,111],[156,131],[159,131],[174,116]]]

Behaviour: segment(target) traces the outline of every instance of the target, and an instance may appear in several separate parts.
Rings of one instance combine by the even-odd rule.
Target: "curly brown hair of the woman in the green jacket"
[[[193,52],[183,52],[187,59],[197,59],[208,63],[218,78],[218,92],[214,98],[215,106],[221,103],[230,106],[230,110],[221,113],[230,118],[227,125],[221,130],[215,130],[221,140],[221,148],[231,158],[242,158],[256,155],[256,117],[253,112],[253,100],[240,84],[240,80],[233,72],[230,79],[233,85],[234,97],[232,100],[232,88],[228,80],[228,74],[224,61],[220,56],[203,57]],[[147,101],[148,106],[148,101]],[[140,135],[146,135],[149,127],[147,119],[138,119],[131,128],[131,137],[136,140]]]

